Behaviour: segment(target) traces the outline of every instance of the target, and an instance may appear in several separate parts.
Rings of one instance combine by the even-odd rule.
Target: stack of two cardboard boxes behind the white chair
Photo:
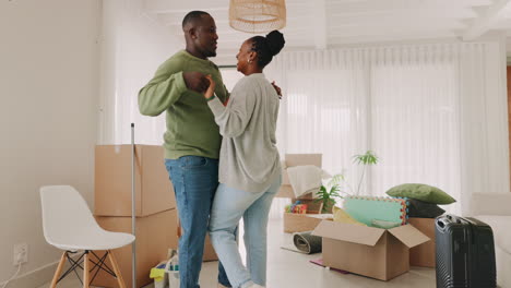
[[[96,146],[94,214],[106,230],[132,231],[131,155],[131,145]],[[135,145],[136,287],[150,284],[151,268],[178,247],[178,214],[163,155],[162,146]],[[126,286],[132,287],[131,245],[112,252]],[[93,285],[118,287],[104,271]]]

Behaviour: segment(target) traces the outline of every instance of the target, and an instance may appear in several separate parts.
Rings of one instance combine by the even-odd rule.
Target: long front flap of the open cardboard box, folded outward
[[[312,235],[357,244],[376,245],[384,229],[322,220]]]

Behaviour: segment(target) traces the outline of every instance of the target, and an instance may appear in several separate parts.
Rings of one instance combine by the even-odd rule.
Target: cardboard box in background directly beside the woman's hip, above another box
[[[321,167],[321,159],[322,159],[322,154],[286,154],[285,155],[286,167],[304,166],[304,165],[314,165],[314,166]],[[278,190],[278,193],[275,196],[294,199],[296,196],[289,183],[289,177],[287,176],[287,171],[285,169],[286,167],[283,167],[282,169],[282,185],[281,185],[281,190]],[[312,199],[312,195],[311,193],[308,193],[308,194],[300,196],[300,199]]]

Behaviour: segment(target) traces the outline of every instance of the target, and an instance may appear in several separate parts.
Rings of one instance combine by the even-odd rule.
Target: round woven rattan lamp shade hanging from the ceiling
[[[230,0],[230,27],[248,33],[262,33],[286,26],[284,0]]]

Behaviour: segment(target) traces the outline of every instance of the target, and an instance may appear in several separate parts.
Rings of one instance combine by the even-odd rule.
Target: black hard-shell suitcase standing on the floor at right
[[[495,288],[494,232],[475,218],[436,219],[437,288]]]

